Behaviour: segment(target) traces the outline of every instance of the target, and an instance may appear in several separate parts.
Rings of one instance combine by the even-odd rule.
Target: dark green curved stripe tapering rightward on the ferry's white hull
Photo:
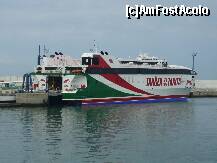
[[[87,77],[87,88],[79,89],[77,93],[63,93],[63,99],[84,99],[84,98],[106,98],[106,97],[126,97],[138,96],[134,94],[124,93],[113,89],[108,85],[97,81],[90,75]]]

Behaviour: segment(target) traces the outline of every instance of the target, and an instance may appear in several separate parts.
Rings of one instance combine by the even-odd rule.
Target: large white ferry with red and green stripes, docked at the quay
[[[59,91],[67,104],[186,101],[196,75],[190,68],[145,54],[121,59],[101,51],[84,53],[75,60],[56,52],[39,57],[31,89]]]

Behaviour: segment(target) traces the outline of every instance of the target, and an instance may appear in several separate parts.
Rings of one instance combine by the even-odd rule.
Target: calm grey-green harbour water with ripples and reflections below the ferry
[[[217,162],[217,98],[0,108],[0,162]]]

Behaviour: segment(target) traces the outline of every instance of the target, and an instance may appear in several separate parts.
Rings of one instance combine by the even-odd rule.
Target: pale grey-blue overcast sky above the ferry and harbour
[[[126,4],[207,6],[209,17],[142,17],[128,20]],[[217,1],[0,0],[0,75],[22,75],[37,63],[38,45],[78,58],[97,41],[114,56],[138,53],[191,67],[217,79]]]

